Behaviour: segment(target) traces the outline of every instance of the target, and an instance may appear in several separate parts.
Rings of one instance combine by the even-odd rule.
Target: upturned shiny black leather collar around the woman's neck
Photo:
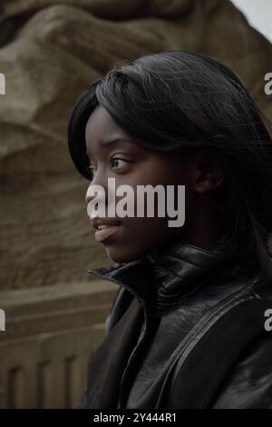
[[[131,263],[89,269],[130,291],[151,312],[161,312],[204,285],[209,278],[233,263],[238,253],[226,251],[224,240],[203,249],[175,241]]]

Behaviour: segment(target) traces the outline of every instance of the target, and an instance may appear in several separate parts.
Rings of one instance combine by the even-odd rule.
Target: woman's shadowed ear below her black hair
[[[222,184],[225,178],[225,162],[213,148],[204,148],[196,155],[195,193],[208,193]]]

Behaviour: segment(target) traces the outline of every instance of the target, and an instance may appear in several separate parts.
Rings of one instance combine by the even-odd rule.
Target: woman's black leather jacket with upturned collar
[[[205,359],[200,352],[181,388],[176,387],[180,358],[184,364],[189,348],[201,336],[206,334],[211,348],[217,338],[224,338],[226,344],[219,344],[219,350],[226,345],[231,355],[244,335],[236,333],[236,324],[228,316],[228,334],[221,327],[209,343],[207,331],[212,323],[219,324],[234,305],[243,322],[241,303],[254,303],[263,292],[269,298],[272,294],[272,283],[265,283],[257,264],[243,267],[237,253],[225,253],[221,248],[219,243],[209,250],[171,243],[162,252],[131,263],[89,270],[118,283],[120,289],[106,321],[107,336],[90,359],[80,408],[272,409],[272,332],[258,334],[227,372],[220,359],[212,362],[212,353]],[[247,314],[251,309],[245,306]],[[261,322],[265,323],[265,317]],[[199,405],[195,392],[206,393],[199,376],[211,369],[217,373],[210,374],[210,381],[217,375],[222,381],[212,400]]]

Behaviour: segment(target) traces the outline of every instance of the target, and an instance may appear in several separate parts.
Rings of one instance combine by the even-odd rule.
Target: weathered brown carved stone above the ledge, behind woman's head
[[[2,1],[0,283],[82,282],[107,263],[87,223],[87,182],[67,151],[67,121],[93,79],[123,59],[168,49],[216,55],[272,116],[271,44],[228,0]]]

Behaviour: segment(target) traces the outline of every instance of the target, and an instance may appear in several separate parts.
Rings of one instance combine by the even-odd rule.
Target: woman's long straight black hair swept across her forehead
[[[73,108],[69,150],[78,171],[92,179],[85,126],[102,105],[137,144],[153,150],[213,150],[225,179],[214,191],[216,209],[246,263],[272,278],[267,236],[272,228],[272,142],[265,118],[227,65],[180,51],[116,65],[93,82]]]

